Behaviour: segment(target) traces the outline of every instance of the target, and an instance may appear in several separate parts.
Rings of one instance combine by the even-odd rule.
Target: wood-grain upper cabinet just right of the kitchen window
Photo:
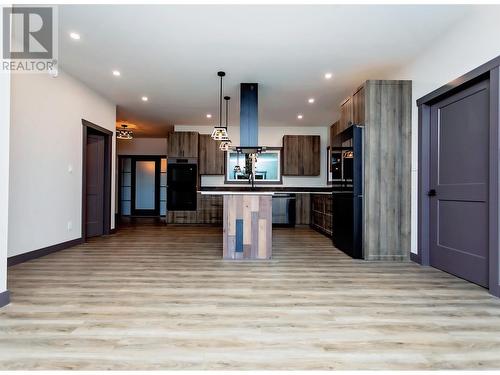
[[[283,137],[283,175],[320,175],[319,135],[285,135]]]

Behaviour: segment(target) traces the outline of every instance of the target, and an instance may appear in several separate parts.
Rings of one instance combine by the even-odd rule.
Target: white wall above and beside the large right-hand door
[[[392,79],[413,81],[412,252],[417,252],[418,108],[416,100],[500,55],[500,7],[471,11]]]

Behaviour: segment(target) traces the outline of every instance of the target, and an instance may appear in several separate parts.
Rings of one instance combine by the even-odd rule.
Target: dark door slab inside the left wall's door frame
[[[104,234],[104,136],[87,135],[86,237]]]

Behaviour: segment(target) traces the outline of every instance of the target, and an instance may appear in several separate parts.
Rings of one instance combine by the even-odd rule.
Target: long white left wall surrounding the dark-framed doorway
[[[61,70],[12,76],[9,256],[81,237],[82,118],[114,131],[116,107]]]

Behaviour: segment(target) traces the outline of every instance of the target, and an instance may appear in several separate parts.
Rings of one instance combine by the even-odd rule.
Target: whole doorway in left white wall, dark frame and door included
[[[82,238],[111,232],[113,132],[82,119]]]

